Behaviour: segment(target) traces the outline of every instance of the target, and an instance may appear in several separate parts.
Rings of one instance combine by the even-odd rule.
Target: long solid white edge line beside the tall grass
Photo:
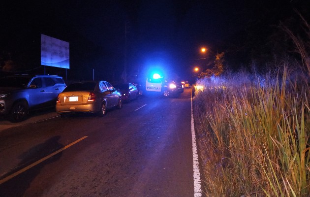
[[[196,135],[194,127],[194,115],[193,115],[193,99],[190,91],[190,113],[191,113],[191,140],[193,146],[193,167],[194,167],[194,197],[201,197],[201,182],[199,172],[199,161],[197,153]]]

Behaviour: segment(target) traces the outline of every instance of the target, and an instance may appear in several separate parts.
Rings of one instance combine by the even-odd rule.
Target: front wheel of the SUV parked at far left
[[[21,122],[28,117],[28,114],[28,103],[26,101],[19,101],[13,105],[9,114],[9,120],[14,123]]]

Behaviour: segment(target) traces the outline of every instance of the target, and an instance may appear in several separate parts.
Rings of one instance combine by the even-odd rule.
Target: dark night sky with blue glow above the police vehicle
[[[0,61],[16,70],[42,72],[40,34],[70,43],[68,79],[117,80],[152,68],[163,75],[191,75],[199,48],[212,57],[255,24],[259,31],[307,12],[308,0],[40,0],[7,1],[0,6]],[[262,26],[265,25],[265,26]],[[264,33],[264,31],[262,31]],[[241,42],[240,41],[240,42]],[[64,75],[61,68],[46,68]],[[42,73],[41,73],[42,74]],[[113,77],[114,75],[114,77]]]

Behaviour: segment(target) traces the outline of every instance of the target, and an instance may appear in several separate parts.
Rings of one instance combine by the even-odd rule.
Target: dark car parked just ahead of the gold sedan
[[[130,100],[136,99],[139,96],[137,87],[131,83],[117,84],[115,89],[122,94],[122,100],[126,102],[130,102]]]

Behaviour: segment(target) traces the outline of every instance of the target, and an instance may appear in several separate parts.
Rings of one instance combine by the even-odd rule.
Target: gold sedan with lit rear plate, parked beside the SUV
[[[122,96],[107,81],[72,83],[59,94],[56,111],[61,116],[72,112],[90,112],[104,116],[109,108],[122,108]]]

